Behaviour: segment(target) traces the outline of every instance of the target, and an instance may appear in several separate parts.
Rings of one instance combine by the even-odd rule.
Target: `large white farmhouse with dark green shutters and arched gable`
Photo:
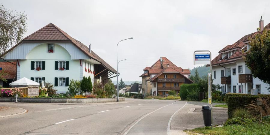
[[[91,76],[94,82],[101,77],[101,82],[107,83],[117,73],[91,45],[88,48],[52,23],[22,39],[0,58],[17,62],[17,79],[52,82],[58,93],[67,91],[70,79]]]

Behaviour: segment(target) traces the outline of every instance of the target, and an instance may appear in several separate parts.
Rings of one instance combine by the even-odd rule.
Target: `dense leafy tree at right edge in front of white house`
[[[249,38],[249,41],[250,50],[245,56],[247,67],[253,77],[270,84],[270,30],[265,29],[262,33],[256,33],[254,37]]]

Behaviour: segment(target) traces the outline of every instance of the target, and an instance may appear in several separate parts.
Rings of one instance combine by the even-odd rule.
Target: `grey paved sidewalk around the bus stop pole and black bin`
[[[189,102],[187,102],[189,103]],[[181,110],[179,110],[172,119],[171,122],[171,133],[183,133],[183,130],[194,129],[204,127],[202,113],[194,113],[195,108],[202,108],[201,105],[187,104]],[[220,107],[213,107],[217,109]],[[215,113],[213,112],[213,126],[221,125],[228,119],[227,113]]]

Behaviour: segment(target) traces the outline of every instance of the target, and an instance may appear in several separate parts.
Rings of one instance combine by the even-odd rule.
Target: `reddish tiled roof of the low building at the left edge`
[[[4,70],[4,73],[7,73],[7,75],[2,76],[4,79],[14,79],[16,76],[16,73],[17,73],[16,62],[11,62],[11,63],[0,62],[0,67],[2,67],[2,70]],[[0,70],[0,72],[2,72],[2,70]]]

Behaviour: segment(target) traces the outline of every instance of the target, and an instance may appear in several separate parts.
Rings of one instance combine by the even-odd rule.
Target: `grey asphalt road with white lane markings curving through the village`
[[[129,99],[106,104],[14,104],[27,113],[0,118],[0,134],[161,134],[185,101]]]

